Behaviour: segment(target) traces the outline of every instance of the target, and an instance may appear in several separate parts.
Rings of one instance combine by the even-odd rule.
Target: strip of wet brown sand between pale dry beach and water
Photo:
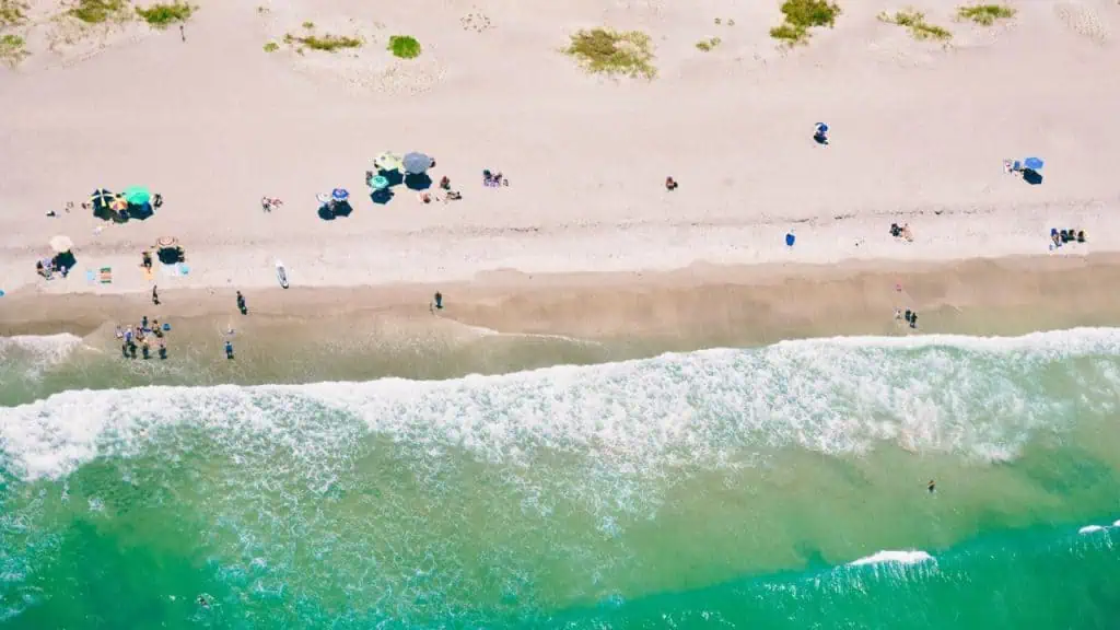
[[[837,266],[694,265],[672,272],[480,276],[473,282],[346,288],[234,289],[3,298],[0,335],[71,333],[100,343],[142,315],[209,331],[268,328],[277,340],[436,335],[556,336],[628,348],[624,356],[753,346],[833,335],[965,333],[1016,335],[1120,323],[1120,254],[979,259],[933,265],[851,261]],[[435,291],[445,308],[431,311]],[[917,330],[895,311],[921,314]],[[374,343],[376,345],[376,343]],[[640,350],[636,350],[640,349]]]

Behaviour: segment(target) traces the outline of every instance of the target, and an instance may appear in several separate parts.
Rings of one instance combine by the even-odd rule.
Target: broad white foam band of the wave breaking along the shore
[[[790,446],[860,454],[883,442],[1006,461],[1039,429],[1072,421],[1075,404],[1114,405],[1118,356],[1120,330],[1080,328],[836,337],[448,381],[66,391],[0,409],[0,465],[24,479],[64,475],[181,426],[215,439],[267,435],[309,462],[355,426],[430,456],[457,448],[530,466],[568,454],[591,472],[749,465]],[[1055,385],[1066,359],[1088,362]],[[1055,389],[1071,385],[1080,401]],[[323,416],[337,419],[301,421]]]

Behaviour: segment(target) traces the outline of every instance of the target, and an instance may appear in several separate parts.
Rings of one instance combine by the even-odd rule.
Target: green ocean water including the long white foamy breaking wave
[[[81,346],[0,342],[0,627],[1120,623],[1120,328],[115,389]]]

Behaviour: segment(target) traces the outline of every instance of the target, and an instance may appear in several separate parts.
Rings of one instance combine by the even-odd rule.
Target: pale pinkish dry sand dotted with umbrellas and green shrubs
[[[0,70],[0,289],[274,287],[277,259],[311,287],[1120,250],[1113,0],[1012,0],[1017,15],[990,27],[907,4],[948,44],[876,18],[900,6],[841,1],[836,27],[793,49],[768,35],[777,1],[198,4],[183,40],[141,22],[60,35],[74,27],[58,3],[31,2],[16,29],[30,55]],[[365,45],[298,54],[282,38],[305,21]],[[561,53],[598,26],[647,33],[657,77],[592,76]],[[422,54],[392,57],[396,34]],[[829,146],[811,139],[818,121]],[[431,155],[464,198],[423,204],[401,187],[373,203],[364,173],[385,150]],[[1046,160],[1039,185],[1004,172],[1027,156]],[[510,186],[484,187],[485,168]],[[78,207],[134,184],[165,198],[147,221]],[[323,221],[315,196],[338,186],[355,211]],[[263,195],[284,205],[264,213]],[[1052,252],[1052,228],[1089,242]],[[55,234],[78,265],[48,282],[35,261]],[[139,252],[165,235],[190,272],[147,281]],[[102,267],[112,284],[88,282]]]

